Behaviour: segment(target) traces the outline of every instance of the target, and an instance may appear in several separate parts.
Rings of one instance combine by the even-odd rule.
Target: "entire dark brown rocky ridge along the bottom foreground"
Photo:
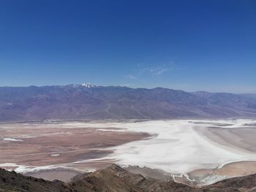
[[[0,191],[37,191],[37,192],[182,192],[182,191],[256,191],[256,174],[222,180],[203,188],[175,183],[163,182],[132,174],[120,166],[113,164],[97,172],[80,174],[70,183],[47,181],[34,177],[26,177],[16,172],[0,169]]]

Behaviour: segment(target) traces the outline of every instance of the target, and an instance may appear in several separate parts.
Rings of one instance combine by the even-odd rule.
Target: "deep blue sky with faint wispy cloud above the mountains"
[[[256,93],[255,0],[1,0],[0,86]]]

